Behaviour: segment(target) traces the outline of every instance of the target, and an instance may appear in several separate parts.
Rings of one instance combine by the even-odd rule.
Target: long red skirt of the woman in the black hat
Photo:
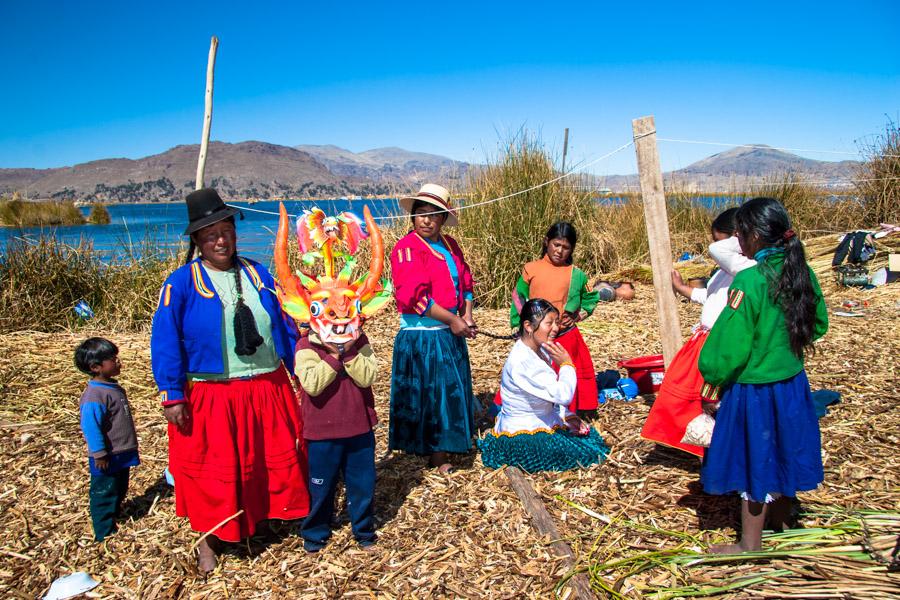
[[[300,405],[283,368],[252,379],[198,381],[186,399],[185,430],[169,424],[179,517],[202,532],[226,521],[214,535],[237,542],[262,520],[309,513]]]

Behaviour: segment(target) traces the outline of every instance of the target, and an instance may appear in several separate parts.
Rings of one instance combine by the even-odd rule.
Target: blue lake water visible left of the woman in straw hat
[[[230,203],[244,210],[244,220],[237,221],[238,248],[242,254],[268,262],[272,255],[275,230],[278,228],[277,214],[255,211],[278,212],[278,202]],[[285,201],[288,213],[297,215],[304,210],[318,206],[327,215],[351,211],[362,218],[363,205],[368,204],[375,217],[400,215],[402,211],[396,200],[319,200]],[[140,255],[146,249],[166,252],[177,250],[186,243],[184,228],[187,226],[187,208],[183,202],[166,204],[113,204],[109,205],[109,225],[76,225],[68,227],[29,227],[13,229],[0,227],[0,248],[5,251],[12,239],[37,240],[41,236],[52,235],[67,245],[77,246],[82,241],[90,242],[95,250],[109,259],[116,260]],[[81,210],[87,216],[89,207]],[[293,230],[293,219],[292,219]]]

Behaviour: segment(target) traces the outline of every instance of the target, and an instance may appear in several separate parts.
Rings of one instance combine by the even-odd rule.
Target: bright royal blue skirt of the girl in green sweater
[[[735,383],[722,396],[700,474],[709,494],[795,496],[825,479],[819,420],[806,371],[765,384]]]

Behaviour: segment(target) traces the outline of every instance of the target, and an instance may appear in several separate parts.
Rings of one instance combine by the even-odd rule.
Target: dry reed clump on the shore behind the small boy
[[[89,242],[70,246],[50,235],[11,240],[0,256],[0,331],[77,327],[84,300],[92,323],[134,330],[149,323],[166,275],[179,263],[150,241],[108,261]]]

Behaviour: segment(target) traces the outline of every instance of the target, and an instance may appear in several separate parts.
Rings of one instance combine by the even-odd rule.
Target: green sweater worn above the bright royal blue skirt
[[[774,383],[803,370],[803,360],[791,350],[784,312],[772,301],[760,271],[768,266],[780,274],[783,264],[784,255],[773,254],[735,275],[728,304],[700,351],[700,373],[707,383]],[[809,275],[816,294],[816,340],[828,330],[828,309],[812,269]]]

